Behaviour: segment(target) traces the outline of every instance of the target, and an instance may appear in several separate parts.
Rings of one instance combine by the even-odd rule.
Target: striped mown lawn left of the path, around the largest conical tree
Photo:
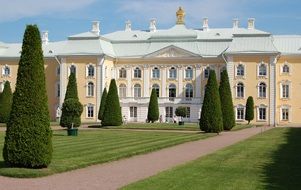
[[[202,133],[89,130],[79,131],[79,136],[77,137],[68,137],[66,133],[66,131],[54,131],[53,160],[47,169],[24,169],[8,168],[4,165],[2,158],[4,132],[0,132],[0,175],[40,177],[215,135]]]

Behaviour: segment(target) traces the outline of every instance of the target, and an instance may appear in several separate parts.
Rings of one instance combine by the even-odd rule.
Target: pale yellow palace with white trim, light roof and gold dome
[[[99,22],[91,31],[50,42],[42,33],[49,110],[52,120],[60,108],[71,72],[76,73],[83,122],[96,122],[102,91],[116,79],[122,115],[131,122],[145,122],[150,92],[156,89],[160,115],[174,116],[178,106],[188,108],[186,121],[197,122],[202,110],[209,70],[227,70],[237,122],[244,122],[248,96],[254,98],[254,123],[301,123],[301,36],[273,35],[247,28],[233,20],[233,27],[185,26],[185,12],[176,13],[169,29],[157,29],[152,19],[148,30],[125,29],[102,34]],[[5,81],[14,89],[21,43],[0,42],[0,91]],[[300,72],[300,73],[299,73]],[[34,95],[34,94],[33,94]]]

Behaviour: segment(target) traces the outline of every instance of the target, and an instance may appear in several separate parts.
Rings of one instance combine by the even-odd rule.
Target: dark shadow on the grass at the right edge
[[[290,128],[286,138],[272,154],[272,162],[264,166],[267,190],[301,188],[301,128]]]

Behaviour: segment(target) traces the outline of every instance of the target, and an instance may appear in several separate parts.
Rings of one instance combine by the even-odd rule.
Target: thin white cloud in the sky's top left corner
[[[72,12],[96,0],[0,0],[0,22]]]

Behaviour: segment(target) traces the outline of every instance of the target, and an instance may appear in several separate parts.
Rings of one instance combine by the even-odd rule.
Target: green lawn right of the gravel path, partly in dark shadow
[[[301,188],[301,128],[275,128],[123,189]]]

